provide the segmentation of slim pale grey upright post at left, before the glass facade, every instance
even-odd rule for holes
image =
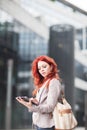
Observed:
[[[5,127],[6,130],[11,129],[11,97],[12,97],[12,71],[13,71],[13,60],[7,61],[7,96],[6,96],[6,118]]]

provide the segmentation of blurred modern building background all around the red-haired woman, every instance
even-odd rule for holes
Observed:
[[[66,0],[0,0],[0,129],[32,128],[32,113],[15,97],[32,96],[31,64],[40,55],[55,59],[87,129],[87,11]]]

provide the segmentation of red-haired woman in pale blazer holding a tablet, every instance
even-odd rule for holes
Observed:
[[[33,124],[37,130],[54,130],[52,112],[61,92],[57,64],[48,56],[39,56],[32,63],[32,75],[37,105],[32,103],[34,98],[30,98],[29,102],[21,97],[17,100],[33,112]]]

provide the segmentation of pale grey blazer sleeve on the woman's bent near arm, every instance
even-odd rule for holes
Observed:
[[[60,84],[59,80],[52,79],[49,84],[47,102],[45,104],[40,104],[38,106],[32,105],[32,107],[29,109],[29,111],[40,112],[40,113],[52,112],[58,101],[60,92],[61,92],[61,84]]]

